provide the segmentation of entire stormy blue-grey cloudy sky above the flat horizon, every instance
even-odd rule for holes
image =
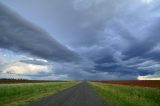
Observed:
[[[160,1],[0,0],[0,78],[160,79]]]

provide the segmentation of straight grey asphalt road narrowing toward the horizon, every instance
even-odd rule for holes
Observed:
[[[42,98],[28,106],[103,106],[87,82]]]

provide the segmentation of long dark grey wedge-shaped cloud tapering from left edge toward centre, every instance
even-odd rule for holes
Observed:
[[[42,29],[0,4],[0,47],[54,61],[75,61],[79,56]]]

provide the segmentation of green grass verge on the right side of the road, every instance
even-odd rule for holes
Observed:
[[[160,106],[160,89],[90,82],[107,106]]]

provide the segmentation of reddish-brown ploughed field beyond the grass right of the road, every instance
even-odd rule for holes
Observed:
[[[160,80],[95,81],[107,84],[160,88]]]

